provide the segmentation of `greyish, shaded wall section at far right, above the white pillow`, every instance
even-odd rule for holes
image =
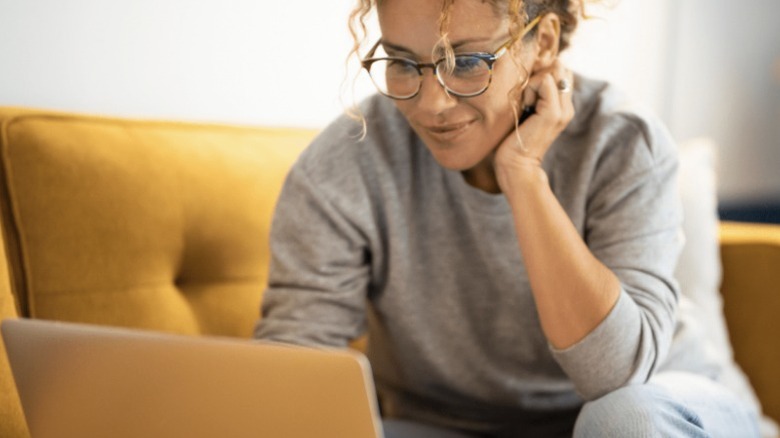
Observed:
[[[780,1],[676,1],[669,124],[719,146],[724,202],[780,202]]]

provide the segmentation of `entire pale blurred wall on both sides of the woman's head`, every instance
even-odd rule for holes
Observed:
[[[0,105],[321,127],[343,110],[352,3],[0,0]],[[590,10],[570,65],[678,140],[715,138],[722,198],[780,198],[780,1],[612,3]]]

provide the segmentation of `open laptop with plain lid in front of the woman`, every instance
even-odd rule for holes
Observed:
[[[381,438],[357,352],[43,320],[2,326],[32,438]]]

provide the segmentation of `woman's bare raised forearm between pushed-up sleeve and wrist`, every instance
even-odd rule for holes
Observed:
[[[606,318],[620,282],[585,245],[541,167],[502,174],[542,330],[553,347],[568,348]]]

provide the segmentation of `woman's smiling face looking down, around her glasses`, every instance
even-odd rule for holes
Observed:
[[[431,54],[440,39],[440,14],[439,1],[381,2],[378,17],[385,51],[419,62],[436,61]],[[454,2],[449,41],[455,53],[493,53],[508,39],[508,19],[497,16],[489,2]],[[479,96],[448,96],[431,69],[424,69],[420,93],[409,100],[395,101],[443,167],[469,171],[480,164],[480,168],[489,166],[491,152],[514,128],[509,92],[525,80],[527,73],[511,56],[512,52],[505,54],[494,64],[490,87]]]

